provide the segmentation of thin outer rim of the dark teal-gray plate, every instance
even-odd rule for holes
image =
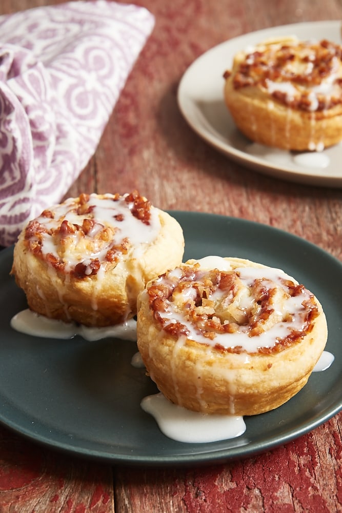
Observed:
[[[341,267],[342,272],[342,263],[334,257],[334,255],[328,253],[323,248],[313,244],[310,241],[307,241],[306,239],[292,234],[288,231],[285,231],[283,229],[273,227],[267,224],[259,223],[256,221],[250,221],[243,218],[234,218],[232,216],[226,216],[222,214],[212,214],[207,212],[194,212],[194,211],[183,211],[183,210],[168,210],[168,212],[171,215],[174,215],[175,218],[178,220],[178,222],[182,226],[182,219],[184,221],[184,218],[192,218],[189,223],[193,220],[198,220],[200,217],[205,217],[208,220],[219,220],[220,222],[228,222],[228,223],[236,223],[237,225],[245,225],[250,228],[253,228],[255,226],[258,226],[261,230],[269,230],[271,232],[277,233],[279,236],[286,236],[290,239],[295,239],[299,244],[304,244],[307,248],[312,248],[314,251],[318,251],[320,254],[323,255],[323,257],[328,257],[332,261],[334,261],[336,264],[338,264],[339,267]],[[180,219],[180,221],[179,221]],[[0,251],[0,261],[3,261],[5,258],[8,257],[9,254],[11,254],[13,251],[13,246],[10,246],[9,248],[5,248],[2,251]],[[5,255],[5,257],[4,257]],[[334,403],[334,406],[329,406],[329,408],[326,408],[324,410],[324,414],[320,415],[317,414],[314,419],[311,419],[310,422],[306,424],[301,424],[296,427],[292,427],[291,429],[288,429],[284,435],[283,431],[280,431],[280,433],[275,433],[270,439],[265,441],[264,439],[259,442],[254,442],[252,444],[245,444],[241,446],[235,446],[233,448],[222,448],[222,449],[215,449],[215,446],[213,446],[213,450],[207,450],[206,452],[198,452],[194,453],[193,455],[190,455],[190,453],[184,454],[184,455],[129,455],[128,453],[125,453],[124,455],[120,454],[113,454],[108,453],[105,450],[99,450],[99,449],[91,449],[88,447],[81,447],[79,445],[73,445],[72,443],[66,444],[64,442],[58,442],[55,440],[49,439],[45,434],[41,433],[35,433],[33,430],[29,430],[20,425],[18,425],[17,422],[13,422],[11,420],[4,419],[4,416],[0,410],[0,423],[16,433],[18,433],[21,436],[24,436],[25,438],[29,439],[30,441],[40,443],[50,449],[56,449],[62,452],[66,452],[69,455],[72,454],[74,456],[80,456],[80,457],[87,457],[94,460],[100,460],[104,462],[108,462],[111,464],[120,464],[120,465],[146,465],[146,466],[175,466],[175,465],[182,465],[182,466],[192,466],[195,464],[214,464],[214,463],[224,463],[227,461],[233,461],[240,458],[249,458],[254,455],[257,455],[260,452],[265,452],[267,450],[273,449],[279,445],[286,444],[290,441],[293,441],[297,439],[300,436],[305,435],[309,431],[312,431],[316,427],[318,427],[321,424],[324,424],[329,419],[334,417],[339,411],[342,409],[342,391],[340,393],[340,398],[338,402]],[[187,444],[191,445],[191,444]],[[189,451],[190,452],[190,451]]]

